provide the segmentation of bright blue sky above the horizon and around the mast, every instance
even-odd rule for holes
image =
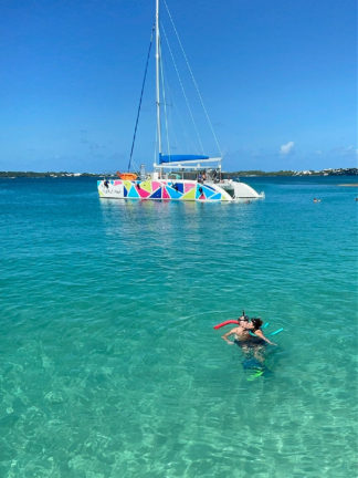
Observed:
[[[154,3],[0,0],[0,170],[126,169]],[[167,3],[224,169],[357,166],[355,0]],[[148,75],[134,158],[150,168]]]

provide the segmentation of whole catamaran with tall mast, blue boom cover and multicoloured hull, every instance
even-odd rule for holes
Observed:
[[[164,0],[165,4],[166,1]],[[166,4],[167,7],[167,4]],[[168,9],[168,7],[167,7]],[[168,10],[169,18],[171,19]],[[173,25],[175,32],[177,30]],[[218,157],[210,157],[203,154],[200,155],[172,155],[170,152],[162,153],[162,132],[161,132],[161,107],[165,105],[160,92],[160,74],[161,74],[161,46],[160,46],[160,28],[159,28],[159,0],[156,0],[156,19],[155,19],[155,43],[156,43],[156,108],[157,108],[157,153],[154,163],[154,172],[145,174],[144,170],[139,175],[129,173],[130,162],[134,149],[134,142],[138,125],[140,104],[139,102],[137,122],[135,127],[134,142],[131,145],[128,173],[119,174],[117,179],[103,179],[97,181],[99,197],[117,198],[117,199],[160,199],[160,200],[191,200],[191,201],[234,201],[240,199],[257,199],[263,198],[264,194],[256,193],[251,186],[239,180],[223,179],[221,173],[221,154]],[[165,33],[166,34],[166,33]],[[177,33],[178,34],[178,33]],[[179,44],[182,44],[178,38]],[[151,46],[151,42],[150,42]],[[147,75],[148,60],[150,54],[148,51],[145,79]],[[186,62],[187,56],[182,50]],[[215,143],[219,143],[213,133],[208,113],[203,106],[201,95],[197,83],[193,79],[192,71],[188,64],[192,81],[199,94],[201,105],[204,110],[207,121],[209,122],[211,132]],[[162,83],[161,83],[162,84]]]

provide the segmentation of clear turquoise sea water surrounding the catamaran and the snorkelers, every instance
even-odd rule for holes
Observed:
[[[2,179],[0,476],[355,476],[354,181],[200,205]],[[254,381],[212,329],[242,309],[284,328]]]

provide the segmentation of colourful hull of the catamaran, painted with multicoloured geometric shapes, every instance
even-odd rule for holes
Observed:
[[[221,202],[264,197],[251,186],[238,181],[198,183],[188,179],[98,180],[99,197],[110,199],[165,199]]]

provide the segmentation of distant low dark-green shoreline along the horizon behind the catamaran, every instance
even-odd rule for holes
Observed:
[[[0,172],[0,178],[14,179],[19,177],[27,178],[63,178],[63,177],[117,177],[115,173],[67,173],[67,172]],[[224,178],[235,177],[280,177],[280,176],[358,176],[358,168],[336,168],[322,170],[280,170],[280,172],[262,172],[262,170],[239,170],[222,173]],[[348,185],[344,185],[348,186]],[[351,186],[356,186],[352,184]]]

